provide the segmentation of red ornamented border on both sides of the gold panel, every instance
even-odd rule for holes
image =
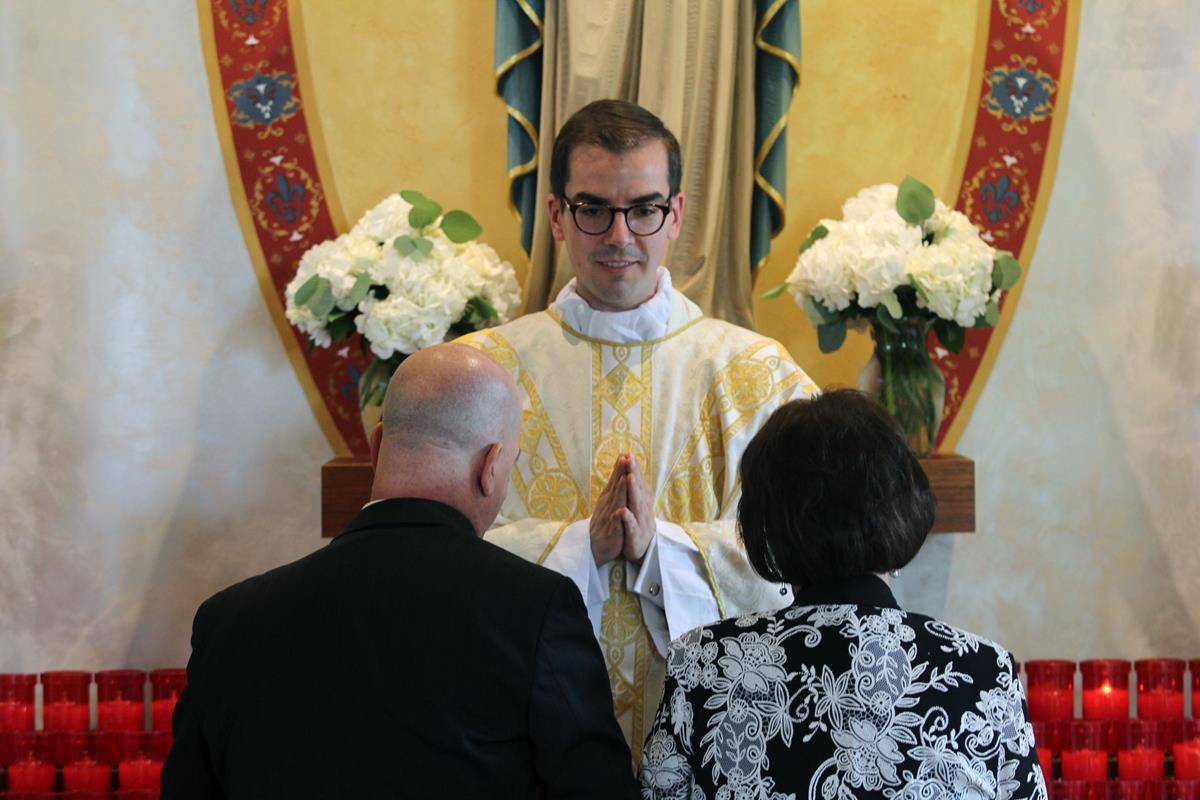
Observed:
[[[978,108],[971,146],[964,169],[956,206],[979,225],[994,245],[1021,255],[1037,211],[1055,112],[1064,101],[1063,62],[1070,25],[1069,0],[991,0],[988,22],[988,54],[984,59]],[[283,320],[284,287],[295,273],[300,255],[312,245],[337,235],[323,190],[300,96],[287,0],[199,0],[202,13],[211,22],[210,68],[224,100],[224,114],[217,124],[228,131],[232,148],[227,157],[235,205],[242,212],[247,246],[259,270],[268,303],[280,324],[281,335],[296,363],[296,372],[310,392],[313,410],[340,452],[365,453],[358,410],[358,375],[366,362],[358,347],[307,349],[305,337]],[[1003,104],[989,102],[992,82],[1024,70],[1043,80],[1048,102],[1036,112],[1006,113]],[[266,115],[246,113],[247,82],[265,100]],[[1024,89],[1030,100],[1037,92]],[[274,91],[274,95],[271,92]],[[266,95],[262,95],[266,92]],[[282,96],[289,95],[287,103]],[[239,106],[239,98],[242,106]],[[272,104],[275,103],[275,104]],[[1012,109],[1009,109],[1012,110]],[[268,119],[270,116],[270,119]],[[224,138],[224,136],[223,136]],[[1052,168],[1052,164],[1050,164]],[[238,197],[238,196],[241,197]],[[1039,203],[1040,199],[1040,203]],[[1036,230],[1034,230],[1036,235]],[[1032,242],[1032,239],[1030,240]],[[1032,252],[1032,248],[1030,248]],[[1028,264],[1025,264],[1028,267]],[[1006,296],[1003,305],[1012,305]],[[1012,309],[1006,311],[1010,315]],[[997,329],[970,330],[958,355],[946,353],[930,339],[935,361],[946,375],[946,414],[938,446],[947,441],[960,411],[970,414],[972,398],[985,377],[982,369],[989,344]],[[997,339],[998,344],[998,339]],[[964,420],[965,421],[965,420]],[[961,425],[958,426],[961,429]],[[952,441],[953,444],[953,441]]]

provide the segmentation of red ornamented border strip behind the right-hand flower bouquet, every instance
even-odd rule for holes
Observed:
[[[1043,179],[1049,176],[1052,181],[1054,178],[1055,164],[1048,164],[1046,158],[1052,150],[1055,122],[1062,122],[1055,119],[1055,114],[1060,107],[1066,107],[1063,64],[1070,30],[1069,1],[990,2],[988,49],[956,207],[979,225],[994,247],[1009,251],[1018,258],[1032,254],[1032,246],[1027,251],[1025,248],[1026,239],[1036,224],[1038,209],[1044,209],[1049,200],[1049,196],[1040,196]],[[1036,80],[1031,80],[1030,74]],[[1016,107],[998,103],[994,96],[994,84],[1003,84],[1006,78],[1008,85],[1001,85],[998,91],[1001,95],[1013,90],[1019,92],[1016,114],[1012,113]],[[1045,102],[1037,102],[1043,91],[1048,95]],[[1037,230],[1032,233],[1036,237]],[[1033,243],[1032,237],[1030,243]],[[1028,276],[1027,258],[1022,266],[1024,282]],[[1006,294],[1001,301],[1002,311],[1014,302],[1015,296]],[[1007,309],[1008,317],[1012,311]],[[986,378],[980,374],[980,365],[997,331],[998,327],[968,330],[966,343],[958,355],[947,353],[930,336],[929,349],[946,375],[946,413],[938,431],[938,449],[946,443],[959,413],[965,410],[970,414],[968,393],[977,379],[983,381]],[[998,345],[997,338],[995,347]],[[974,395],[978,395],[979,387],[976,387]],[[961,423],[956,426],[959,431],[961,427]]]

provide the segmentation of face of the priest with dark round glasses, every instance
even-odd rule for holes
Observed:
[[[600,311],[635,308],[654,296],[667,242],[683,222],[683,194],[670,196],[666,145],[652,140],[618,154],[583,144],[568,163],[566,197],[548,198],[550,228],[566,242],[576,290]],[[610,215],[612,207],[629,211]]]

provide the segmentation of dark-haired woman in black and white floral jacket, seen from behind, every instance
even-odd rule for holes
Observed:
[[[796,602],[672,643],[643,798],[1036,798],[1013,657],[896,604],[934,524],[895,421],[842,390],[781,407],[742,458],[750,564]]]

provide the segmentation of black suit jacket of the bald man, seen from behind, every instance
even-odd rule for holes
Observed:
[[[206,600],[187,679],[164,800],[637,795],[575,584],[431,500]]]

